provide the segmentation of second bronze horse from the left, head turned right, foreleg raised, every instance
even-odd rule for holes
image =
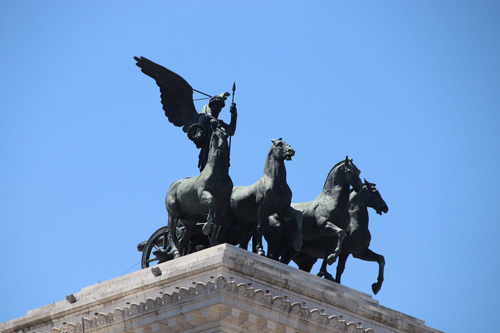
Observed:
[[[293,248],[298,251],[302,246],[302,214],[290,207],[291,190],[286,183],[284,165],[284,160],[290,161],[295,151],[281,138],[271,142],[262,177],[253,185],[234,187],[230,200],[231,219],[241,231],[239,247],[246,250],[256,227],[254,251],[261,256],[265,254],[262,235],[272,214],[294,221]]]

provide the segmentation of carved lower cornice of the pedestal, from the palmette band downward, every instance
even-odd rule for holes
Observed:
[[[220,296],[222,303],[203,306],[206,296]],[[224,297],[251,304],[254,311],[238,309],[223,303]],[[164,316],[172,308],[199,300],[200,309],[175,316]],[[195,303],[195,302],[194,302]],[[241,307],[247,308],[247,307]],[[280,322],[263,316],[266,312],[279,314]],[[154,299],[131,303],[113,312],[99,313],[92,318],[83,318],[84,332],[204,332],[209,328],[224,328],[225,331],[241,332],[339,332],[370,333],[372,329],[346,323],[336,316],[327,316],[319,310],[309,310],[299,303],[291,303],[281,296],[272,296],[261,289],[218,276],[214,281],[198,282],[192,287],[180,288],[173,293],[164,293]],[[238,330],[236,331],[236,329]],[[302,331],[303,330],[303,331]],[[22,331],[20,331],[22,332]],[[20,333],[19,332],[19,333]],[[45,333],[82,333],[81,322],[67,323]]]

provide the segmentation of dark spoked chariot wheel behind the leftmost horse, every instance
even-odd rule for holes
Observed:
[[[177,233],[179,233],[177,229]],[[140,267],[147,268],[150,265],[164,263],[165,261],[172,260],[173,254],[170,252],[170,237],[168,226],[161,227],[156,230],[151,237],[147,240],[142,250],[142,258],[140,260]],[[140,251],[140,250],[139,250]]]

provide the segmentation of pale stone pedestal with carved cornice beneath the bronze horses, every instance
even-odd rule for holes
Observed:
[[[50,333],[439,332],[370,295],[222,244],[83,288],[0,324]]]

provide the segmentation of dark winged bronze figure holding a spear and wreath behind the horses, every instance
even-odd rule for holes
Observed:
[[[201,172],[208,159],[210,137],[217,125],[224,128],[229,136],[234,135],[237,118],[236,104],[231,103],[229,108],[231,113],[229,125],[218,119],[220,111],[225,106],[224,101],[230,95],[228,92],[212,96],[198,113],[192,101],[193,89],[186,80],[142,56],[134,56],[133,58],[137,61],[135,64],[140,68],[140,71],[156,81],[162,108],[168,121],[177,127],[182,127],[182,130],[187,133],[187,137],[196,144],[197,148],[200,148],[198,168]]]

